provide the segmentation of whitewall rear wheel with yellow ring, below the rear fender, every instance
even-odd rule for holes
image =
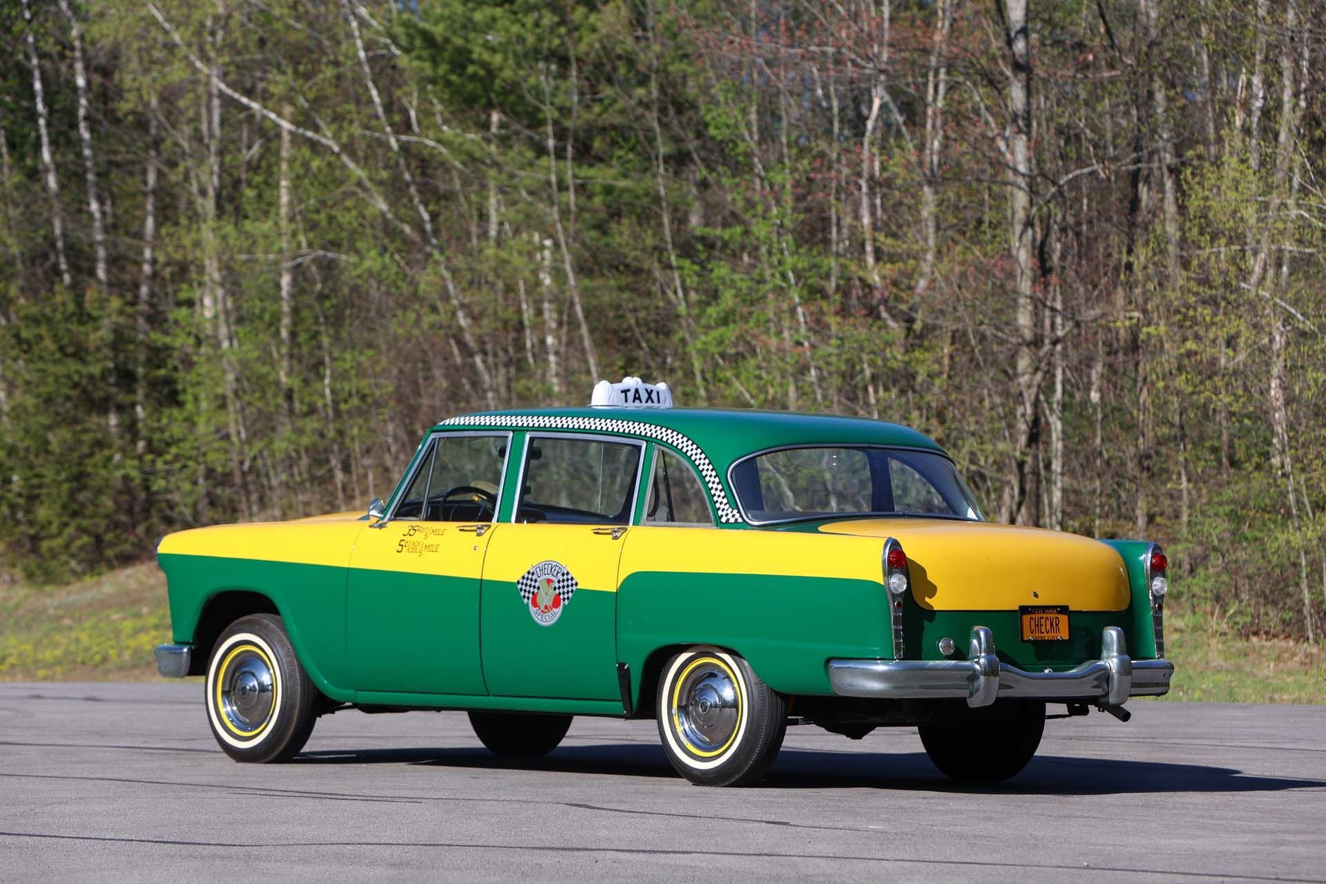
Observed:
[[[716,648],[678,653],[659,675],[659,738],[697,786],[748,786],[773,763],[788,706],[741,657]]]

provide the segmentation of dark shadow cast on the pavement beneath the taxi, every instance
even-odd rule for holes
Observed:
[[[540,770],[548,773],[676,778],[660,746],[561,746],[530,761],[499,758],[479,747],[306,751],[294,763],[422,765],[430,767]],[[940,774],[924,753],[813,751],[784,749],[764,789],[895,789],[1022,795],[1114,795],[1139,793],[1254,793],[1326,789],[1326,779],[1257,777],[1235,767],[1159,761],[1037,755],[997,786],[961,786]]]

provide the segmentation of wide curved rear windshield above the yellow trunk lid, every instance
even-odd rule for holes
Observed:
[[[895,448],[784,448],[732,468],[753,522],[830,516],[932,516],[984,521],[952,461]]]

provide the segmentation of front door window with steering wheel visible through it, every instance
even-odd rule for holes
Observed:
[[[491,522],[507,457],[507,436],[435,436],[396,508],[395,518]]]

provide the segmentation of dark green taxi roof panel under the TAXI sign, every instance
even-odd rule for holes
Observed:
[[[544,428],[544,420],[549,421],[546,428],[577,429],[575,421],[595,419],[650,424],[675,431],[697,444],[715,464],[724,467],[757,451],[782,445],[890,445],[944,453],[944,449],[924,433],[883,420],[745,408],[516,408],[459,415],[444,424],[438,424],[434,429],[501,425],[514,429]],[[590,428],[602,429],[597,420],[595,425],[585,427]],[[626,425],[607,429],[607,432],[614,431],[633,432]]]

